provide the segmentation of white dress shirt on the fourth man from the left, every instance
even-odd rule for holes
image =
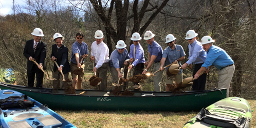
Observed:
[[[95,56],[95,63],[97,63],[95,67],[97,69],[100,68],[103,63],[109,61],[108,52],[109,49],[103,41],[101,41],[99,45],[97,45],[96,41],[93,42],[91,54],[92,56]]]

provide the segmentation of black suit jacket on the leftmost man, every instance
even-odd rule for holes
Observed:
[[[34,39],[27,40],[24,51],[23,51],[23,55],[28,59],[28,62],[27,62],[28,71],[31,71],[33,67],[33,61],[29,60],[30,56],[35,58],[35,61],[38,62],[38,64],[43,63],[43,69],[46,70],[46,65],[44,62],[44,59],[46,57],[46,50],[47,50],[47,45],[41,40],[39,44],[36,46],[36,49],[34,52]]]

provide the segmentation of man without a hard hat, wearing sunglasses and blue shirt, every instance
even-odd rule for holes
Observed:
[[[74,89],[81,89],[81,83],[82,83],[82,75],[76,75],[72,73],[74,70],[83,68],[84,69],[84,59],[82,63],[80,63],[82,58],[86,58],[89,54],[88,46],[85,42],[83,42],[84,35],[79,32],[76,34],[77,41],[74,42],[74,44],[71,47],[71,59],[70,59],[70,71],[72,75],[72,87]],[[83,72],[84,73],[84,72]],[[76,86],[77,84],[77,86]]]

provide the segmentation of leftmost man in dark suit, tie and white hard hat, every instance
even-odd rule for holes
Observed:
[[[27,76],[28,87],[34,86],[34,75],[36,74],[36,87],[43,87],[44,72],[40,70],[43,68],[46,70],[44,59],[46,57],[47,45],[41,40],[44,36],[42,29],[35,28],[31,33],[34,39],[27,40],[23,55],[28,59],[27,62]],[[36,66],[31,59],[39,63]]]

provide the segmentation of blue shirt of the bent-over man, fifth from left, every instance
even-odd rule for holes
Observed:
[[[111,53],[111,56],[110,56],[110,59],[109,59],[109,67],[115,67],[116,69],[119,68],[123,68],[123,62],[125,60],[129,60],[130,59],[130,56],[128,54],[128,51],[127,49],[124,49],[123,53],[119,53],[116,50],[114,50],[112,53]]]

